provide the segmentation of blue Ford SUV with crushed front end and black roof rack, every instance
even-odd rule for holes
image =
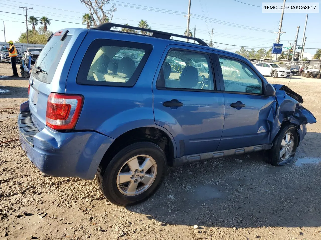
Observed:
[[[293,160],[315,121],[298,94],[201,39],[140,31],[104,23],[49,37],[18,118],[22,148],[43,174],[96,176],[125,206],[150,197],[167,166],[261,150],[273,165]]]

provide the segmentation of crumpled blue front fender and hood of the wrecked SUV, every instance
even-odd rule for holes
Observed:
[[[303,103],[303,99],[298,93],[282,84],[273,84],[273,86],[276,90],[276,101],[268,116],[268,121],[272,129],[272,131],[270,131],[271,140],[275,138],[281,129],[283,121],[288,121],[296,125],[317,122],[315,116],[302,106],[301,103]]]

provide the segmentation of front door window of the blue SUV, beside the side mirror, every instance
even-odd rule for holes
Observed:
[[[228,92],[248,92],[262,94],[262,80],[247,64],[234,59],[219,58],[225,91]],[[233,69],[227,73],[224,66],[230,64]],[[224,73],[225,71],[225,73]]]

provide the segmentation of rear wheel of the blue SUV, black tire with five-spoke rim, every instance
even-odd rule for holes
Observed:
[[[97,172],[100,191],[113,204],[130,206],[145,201],[160,187],[167,172],[164,151],[152,142],[121,149]]]

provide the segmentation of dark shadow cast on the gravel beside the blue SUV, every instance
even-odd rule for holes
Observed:
[[[274,167],[260,153],[171,168],[151,199],[127,210],[180,225],[320,226],[320,141],[308,132],[294,159],[312,164]]]

